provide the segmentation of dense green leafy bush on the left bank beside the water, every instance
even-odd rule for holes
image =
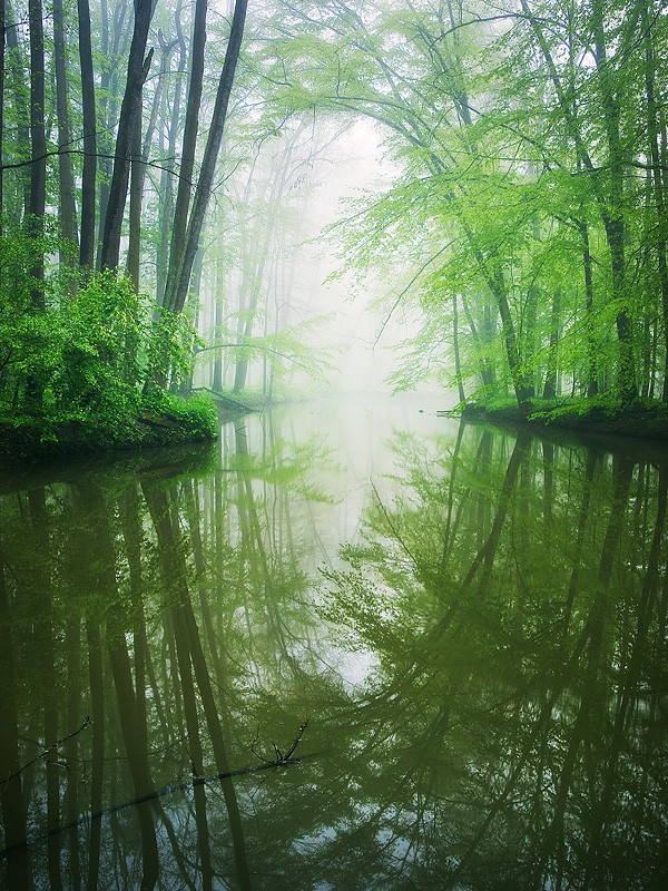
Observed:
[[[30,457],[215,438],[208,401],[159,389],[149,401],[143,395],[160,362],[174,380],[189,370],[194,334],[185,317],[154,323],[148,297],[129,280],[104,272],[77,282],[62,266],[46,277],[45,309],[32,305],[35,252],[59,247],[50,227],[40,239],[18,231],[0,241],[3,451]]]

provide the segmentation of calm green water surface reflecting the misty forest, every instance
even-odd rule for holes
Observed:
[[[434,408],[0,479],[4,888],[668,888],[666,450]]]

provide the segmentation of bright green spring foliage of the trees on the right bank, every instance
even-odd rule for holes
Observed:
[[[548,381],[658,394],[666,198],[648,90],[656,105],[665,22],[541,0],[494,10],[493,29],[461,4],[286,7],[264,52],[285,107],[379,123],[399,170],[336,231],[347,272],[383,281],[385,314],[423,319],[392,383],[435,375],[522,403]]]

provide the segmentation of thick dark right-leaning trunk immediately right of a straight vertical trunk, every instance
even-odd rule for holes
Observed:
[[[130,157],[135,144],[135,130],[140,126],[144,84],[153,58],[153,49],[149,50],[146,58],[144,57],[151,17],[153,0],[136,0],[135,29],[128,59],[126,89],[120,107],[114,173],[102,239],[101,266],[107,270],[118,267],[120,233],[130,177]]]

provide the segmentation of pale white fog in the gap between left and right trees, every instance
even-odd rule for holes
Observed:
[[[345,237],[350,238],[351,226],[345,221],[358,213],[358,202],[369,203],[386,190],[399,168],[386,157],[383,134],[372,123],[360,120],[344,130],[341,125],[337,128],[297,125],[288,136],[264,143],[253,166],[242,165],[232,175],[223,202],[224,214],[236,218],[239,235],[236,242],[227,239],[232,251],[232,258],[226,256],[232,268],[226,283],[228,332],[235,324],[240,330],[247,320],[253,288],[248,277],[253,276],[259,291],[253,336],[257,337],[261,326],[265,336],[273,331],[279,337],[287,331],[312,351],[282,363],[287,398],[392,393],[389,375],[396,369],[401,344],[416,329],[405,301],[396,305],[393,286],[409,274],[400,264],[394,268],[387,257],[371,251],[363,272],[346,267],[353,264],[347,263]],[[209,247],[207,257],[210,254]],[[210,268],[208,278],[214,291],[216,273]],[[215,359],[210,346],[220,340],[215,334],[215,301],[210,292],[207,298],[206,285],[200,303],[199,332],[209,351],[198,364],[195,382],[208,385]],[[277,349],[284,353],[282,359],[289,355],[288,349]],[[224,385],[228,386],[233,359],[224,353]],[[323,363],[316,376],[310,373],[314,362]],[[248,365],[247,384],[264,385],[266,391],[266,354],[258,347]],[[435,381],[421,383],[419,391],[443,393]]]

